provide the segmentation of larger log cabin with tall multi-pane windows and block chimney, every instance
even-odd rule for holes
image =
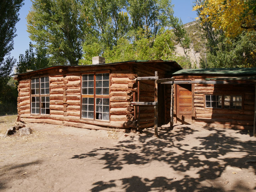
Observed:
[[[92,65],[50,66],[15,74],[19,83],[18,120],[96,130],[153,126],[155,80],[180,69],[175,61],[105,63],[105,58],[94,57]],[[143,79],[148,76],[153,77]],[[167,89],[168,86],[165,90],[165,85],[159,84],[157,90],[160,124],[170,119]],[[142,105],[143,102],[148,105]]]

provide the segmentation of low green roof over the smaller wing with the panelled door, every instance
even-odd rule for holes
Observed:
[[[209,68],[209,69],[181,69],[170,75],[256,75],[256,67],[254,68]]]

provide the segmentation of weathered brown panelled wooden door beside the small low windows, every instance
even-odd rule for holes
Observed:
[[[192,123],[192,86],[176,85],[176,121],[182,124]]]

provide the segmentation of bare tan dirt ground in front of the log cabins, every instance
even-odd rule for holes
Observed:
[[[31,135],[0,138],[0,191],[256,191],[256,163],[244,163],[256,160],[248,131],[176,125],[156,138],[153,129],[26,126]]]

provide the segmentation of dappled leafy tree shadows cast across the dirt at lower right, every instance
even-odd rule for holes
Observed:
[[[255,142],[241,142],[239,136],[243,133],[226,134],[224,129],[204,127],[208,132],[204,136],[198,134],[201,130],[189,126],[159,128],[159,137],[152,137],[153,131],[148,130],[143,136],[131,136],[127,140],[119,141],[116,146],[96,148],[88,153],[74,155],[72,158],[93,157],[104,162],[104,169],[122,170],[125,164],[144,165],[152,161],[165,162],[171,169],[185,174],[188,170],[195,170],[197,177],[185,175],[184,178],[155,177],[153,180],[132,176],[120,180],[98,181],[91,191],[111,190],[116,182],[122,182],[123,191],[224,191],[224,182],[218,178],[229,166],[240,169],[253,169],[252,163],[244,163],[248,159],[256,159]],[[194,143],[190,143],[194,138]],[[136,145],[133,143],[137,141]],[[235,152],[236,156],[230,156]],[[249,156],[250,155],[250,156]],[[249,157],[248,157],[249,156]],[[202,182],[215,182],[212,186],[205,186]],[[141,187],[137,187],[140,185]],[[233,187],[237,191],[250,191],[245,188],[246,183],[237,181]],[[255,186],[256,187],[256,186]],[[143,189],[143,190],[141,190]],[[236,191],[235,190],[235,191]]]

